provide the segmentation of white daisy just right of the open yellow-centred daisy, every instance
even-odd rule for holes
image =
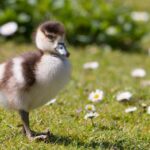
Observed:
[[[121,102],[121,101],[129,101],[132,97],[132,93],[129,91],[125,91],[125,92],[121,92],[119,94],[117,94],[116,99],[117,101]]]

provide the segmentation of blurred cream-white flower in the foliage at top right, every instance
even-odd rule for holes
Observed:
[[[147,22],[149,20],[149,14],[143,11],[134,11],[131,13],[131,18],[134,21],[143,21]]]

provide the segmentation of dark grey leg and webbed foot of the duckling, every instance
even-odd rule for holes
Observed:
[[[19,111],[21,120],[23,122],[23,132],[28,137],[29,140],[46,140],[50,136],[50,132],[36,133],[30,129],[29,125],[29,112],[24,110]]]

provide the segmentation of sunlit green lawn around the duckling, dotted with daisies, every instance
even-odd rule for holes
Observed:
[[[11,43],[0,47],[1,62],[32,50],[31,45]],[[58,95],[57,102],[31,112],[31,127],[37,131],[50,129],[54,136],[48,143],[30,142],[17,127],[21,120],[16,112],[0,109],[0,149],[144,149],[150,148],[150,116],[143,113],[140,103],[150,105],[150,87],[142,87],[143,80],[149,80],[150,58],[146,54],[104,51],[98,47],[70,48],[72,78],[68,86]],[[98,61],[97,70],[84,70],[83,64]],[[144,79],[133,79],[132,69],[142,67],[147,71]],[[85,105],[89,104],[88,94],[96,88],[105,96],[95,104],[99,117],[92,127],[84,120]],[[130,90],[133,100],[118,103],[115,95]],[[126,114],[125,108],[137,106],[138,111]],[[81,113],[76,111],[82,109]]]

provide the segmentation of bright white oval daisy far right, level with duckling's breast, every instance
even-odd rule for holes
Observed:
[[[131,76],[135,78],[143,78],[146,76],[146,71],[142,68],[137,68],[131,72]]]

